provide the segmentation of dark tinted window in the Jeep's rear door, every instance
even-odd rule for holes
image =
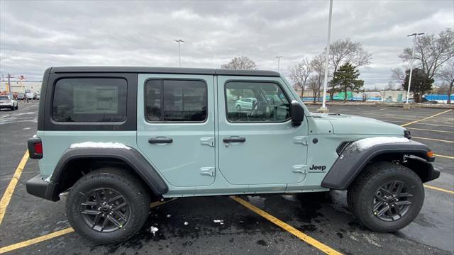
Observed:
[[[206,90],[204,81],[149,80],[145,84],[145,118],[152,122],[203,122]]]

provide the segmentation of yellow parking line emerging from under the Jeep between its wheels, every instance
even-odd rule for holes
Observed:
[[[290,232],[290,234],[293,234],[295,237],[298,237],[299,239],[303,240],[304,242],[311,244],[312,246],[316,247],[320,251],[323,251],[326,254],[341,254],[341,252],[336,251],[335,249],[331,248],[330,246],[327,246],[326,244],[323,244],[316,239],[309,237],[307,234],[304,234],[303,232],[299,231],[298,229],[288,225],[285,222],[282,222],[282,220],[277,219],[277,217],[274,217],[270,215],[268,212],[265,212],[264,210],[261,210],[260,208],[255,207],[254,205],[251,205],[250,203],[246,202],[245,200],[231,196],[233,200],[236,202],[240,203],[241,205],[245,206],[245,208],[248,208],[249,210],[252,210],[253,212],[257,213],[258,215],[264,217],[267,220],[270,220],[270,222],[274,223],[275,225],[281,227],[282,229],[286,230],[287,232]]]

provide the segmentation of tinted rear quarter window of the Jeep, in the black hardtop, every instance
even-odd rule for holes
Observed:
[[[60,79],[55,84],[52,118],[59,122],[126,120],[127,83],[119,78]]]

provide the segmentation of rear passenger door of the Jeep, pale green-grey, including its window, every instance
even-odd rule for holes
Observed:
[[[137,143],[175,187],[215,177],[214,77],[139,74]]]

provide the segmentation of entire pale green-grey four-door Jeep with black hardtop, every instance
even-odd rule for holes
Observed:
[[[153,200],[330,190],[348,191],[365,227],[394,232],[440,175],[408,130],[311,113],[277,72],[52,67],[41,91],[27,191],[68,191],[70,224],[99,243],[132,237]]]

